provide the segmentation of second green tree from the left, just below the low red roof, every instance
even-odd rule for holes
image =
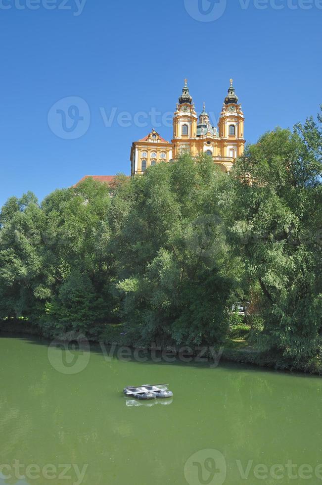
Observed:
[[[110,190],[87,179],[74,189],[55,191],[44,200],[46,247],[54,261],[44,284],[46,299],[40,321],[47,333],[82,330],[91,334],[95,322],[108,322],[115,301],[107,214]]]

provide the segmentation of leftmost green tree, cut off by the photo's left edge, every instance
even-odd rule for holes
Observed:
[[[28,316],[42,281],[46,218],[34,194],[11,197],[0,214],[0,318]]]

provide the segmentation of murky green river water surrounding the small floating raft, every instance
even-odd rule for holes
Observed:
[[[122,393],[147,383],[169,383],[173,399]],[[0,484],[322,483],[318,377],[2,334],[0,384]]]

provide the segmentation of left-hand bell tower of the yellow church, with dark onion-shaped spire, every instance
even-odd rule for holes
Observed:
[[[177,108],[173,117],[173,146],[174,158],[182,151],[190,151],[192,156],[197,154],[195,140],[197,137],[197,113],[192,97],[189,94],[187,80],[184,80],[182,95],[179,97]]]

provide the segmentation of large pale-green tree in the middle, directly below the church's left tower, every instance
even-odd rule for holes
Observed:
[[[225,338],[234,285],[218,208],[226,177],[210,157],[184,154],[131,183],[131,209],[113,247],[122,317],[144,343]],[[117,197],[111,214],[114,204]]]

